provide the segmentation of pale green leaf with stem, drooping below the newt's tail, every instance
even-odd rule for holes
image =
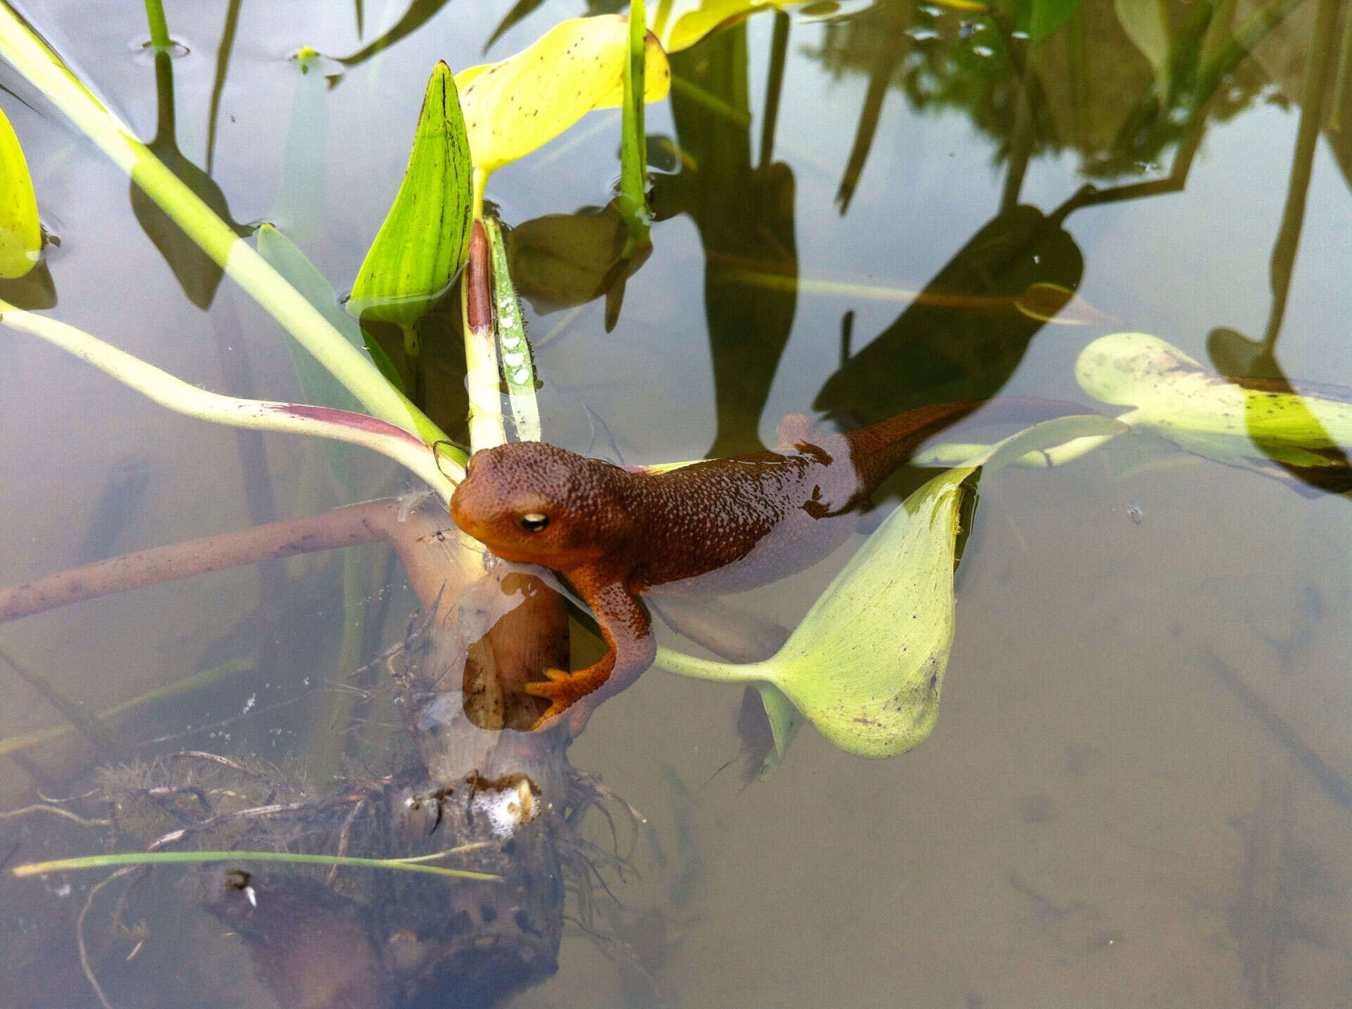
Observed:
[[[891,756],[938,717],[953,643],[953,567],[967,482],[1028,452],[1122,431],[1110,417],[1059,417],[994,446],[911,494],[873,532],[772,658],[749,665],[658,650],[657,665],[704,679],[768,683],[776,756],[794,724],[780,696],[836,746]]]

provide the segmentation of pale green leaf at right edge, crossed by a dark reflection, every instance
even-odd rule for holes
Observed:
[[[1136,407],[1124,415],[1133,428],[1220,462],[1244,463],[1257,443],[1279,462],[1329,466],[1326,450],[1352,444],[1352,403],[1226,380],[1144,332],[1094,340],[1075,377],[1103,403]]]

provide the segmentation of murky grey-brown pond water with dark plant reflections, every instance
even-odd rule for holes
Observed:
[[[650,18],[669,7],[650,0]],[[546,440],[648,463],[758,451],[794,412],[850,427],[996,393],[1102,408],[1075,363],[1121,331],[1229,374],[1352,385],[1348,4],[1046,4],[1069,14],[1045,38],[975,7],[790,5],[673,54],[672,96],[646,112],[653,249],[622,292],[606,285],[622,226],[598,209],[619,176],[618,111],[493,174]],[[276,222],[339,292],[397,189],[435,61],[499,59],[619,9],[176,1],[170,111],[139,5],[22,8],[157,151],[176,140],[210,172],[233,222]],[[1260,12],[1271,23],[1244,38]],[[300,46],[323,54],[304,74]],[[61,239],[50,313],[189,382],[297,398],[279,327],[230,280],[195,288],[191,253],[172,228],[162,249],[147,239],[127,178],[8,68],[0,85]],[[426,396],[462,438],[458,308],[443,315],[425,331]],[[376,457],[342,485],[318,444],[180,417],[8,330],[0,388],[3,585],[411,486]],[[618,901],[596,886],[604,937],[568,924],[557,973],[510,1005],[1352,1004],[1352,513],[1282,475],[1133,435],[983,480],[938,724],[900,756],[804,728],[748,783],[741,689],[650,671],[569,750],[648,821],[633,864],[600,869]],[[863,536],[734,605],[792,627]],[[315,554],[7,625],[4,654],[30,675],[0,663],[0,804],[174,750],[319,782],[392,773],[389,693],[352,700],[347,677],[416,601],[391,551],[353,550],[346,609],[341,558]],[[12,743],[68,725],[51,688],[88,715],[204,670],[100,721],[101,747],[72,731]],[[596,814],[581,829],[608,844]],[[0,821],[11,864],[107,846],[54,814]],[[0,1004],[99,1004],[76,917],[101,878],[0,883]],[[154,881],[135,937],[116,897],[91,904],[111,1004],[384,1005],[288,1000],[173,873]]]

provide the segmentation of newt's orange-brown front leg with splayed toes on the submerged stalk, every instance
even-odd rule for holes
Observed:
[[[608,651],[576,673],[545,670],[549,679],[526,683],[522,689],[550,701],[549,710],[535,720],[533,728],[541,728],[568,712],[568,725],[577,736],[603,700],[623,690],[653,665],[657,642],[648,611],[622,581],[606,579],[585,570],[566,574],[596,615]]]

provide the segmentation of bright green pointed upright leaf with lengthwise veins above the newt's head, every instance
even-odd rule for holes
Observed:
[[[438,62],[403,185],[357,271],[347,301],[352,315],[411,326],[427,311],[465,262],[472,189],[456,78]]]

